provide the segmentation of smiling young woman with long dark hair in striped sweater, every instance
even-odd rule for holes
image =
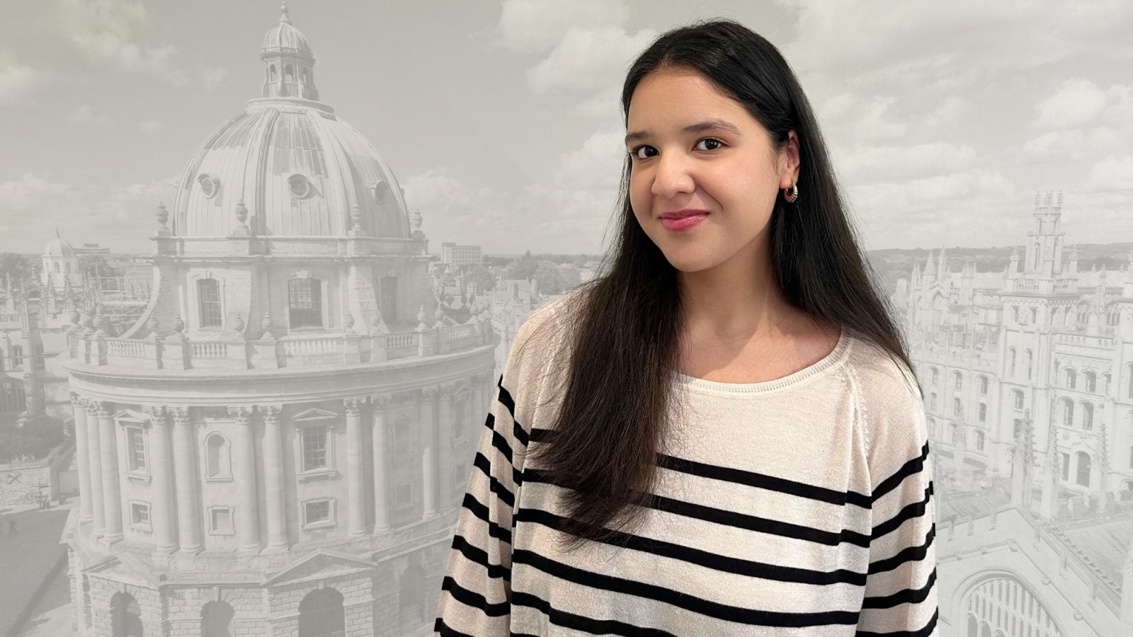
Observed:
[[[793,73],[701,23],[622,108],[617,244],[516,337],[435,631],[935,635],[920,388]]]

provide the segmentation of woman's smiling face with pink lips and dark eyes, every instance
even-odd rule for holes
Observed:
[[[767,222],[780,188],[799,170],[798,138],[784,153],[736,101],[702,75],[664,70],[633,90],[627,117],[630,206],[646,235],[682,272],[732,258],[767,257]],[[800,196],[806,196],[800,193]],[[663,215],[707,212],[690,227],[666,227]]]

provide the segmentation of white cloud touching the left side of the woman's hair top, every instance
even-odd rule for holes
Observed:
[[[615,25],[571,26],[539,63],[527,70],[535,93],[573,88],[594,91],[620,85],[630,62],[656,37],[651,28],[630,35]]]

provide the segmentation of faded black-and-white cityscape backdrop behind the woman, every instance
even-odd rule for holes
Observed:
[[[1123,0],[0,1],[0,630],[434,634],[628,67],[713,17],[799,77],[922,384],[934,634],[1133,635]]]

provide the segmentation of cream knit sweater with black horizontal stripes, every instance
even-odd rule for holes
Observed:
[[[528,317],[504,364],[434,634],[937,635],[919,390],[846,329],[774,381],[673,372],[685,407],[658,453],[655,508],[619,545],[559,552],[561,487],[522,456],[552,422],[543,380],[556,356],[517,346],[561,306]]]

